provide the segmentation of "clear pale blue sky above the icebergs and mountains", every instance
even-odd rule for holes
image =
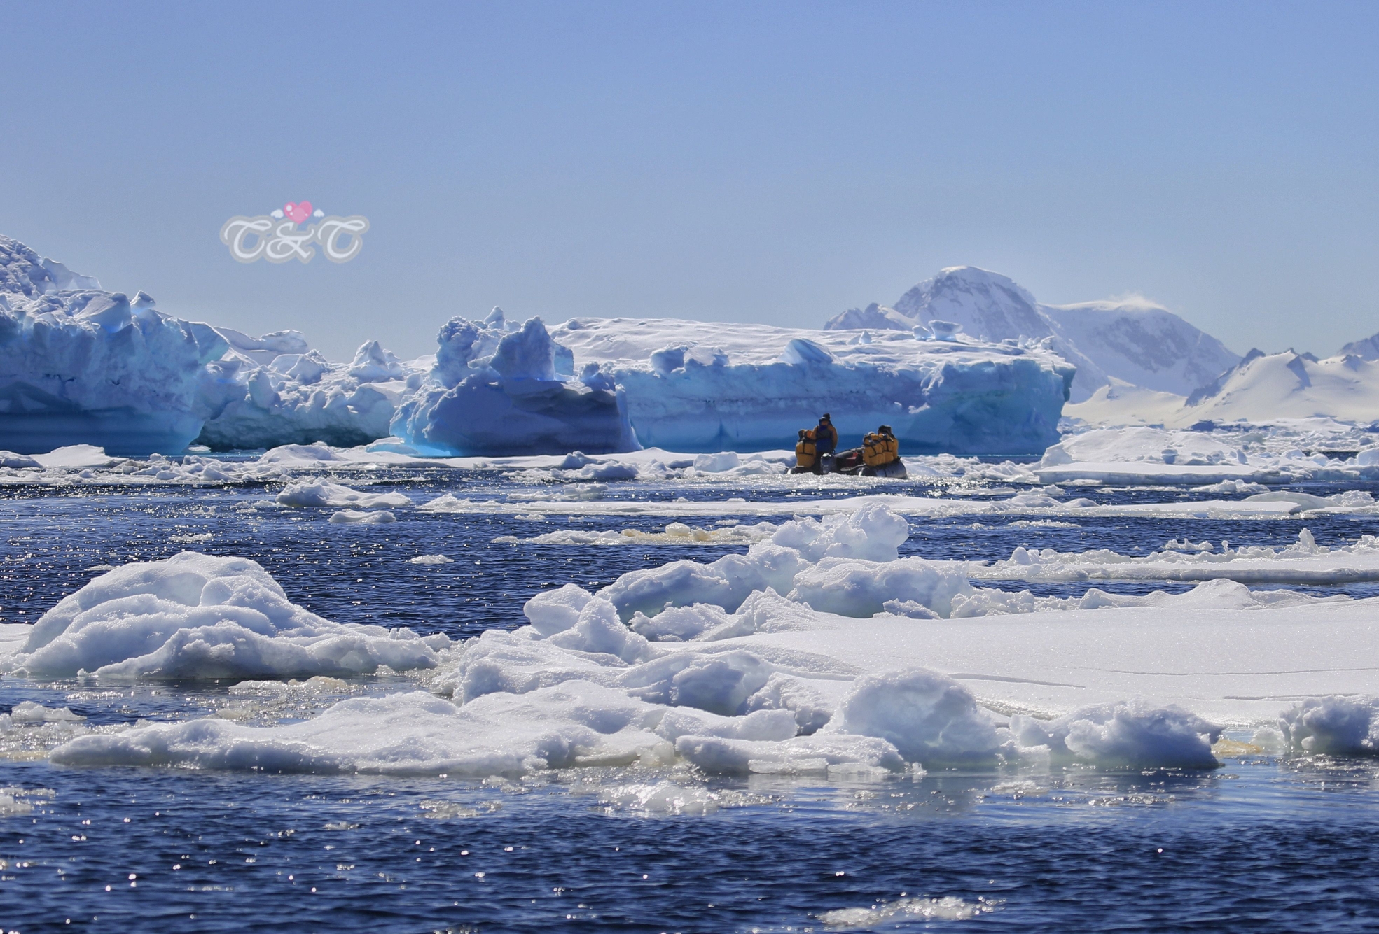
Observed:
[[[1379,4],[4,3],[0,233],[164,311],[429,353],[818,326],[943,266],[1236,351],[1379,331]],[[361,214],[350,263],[232,215]]]

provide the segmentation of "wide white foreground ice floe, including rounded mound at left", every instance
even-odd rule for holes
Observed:
[[[899,558],[906,533],[878,506],[797,519],[746,554],[630,572],[598,592],[545,591],[527,625],[455,645],[336,627],[252,562],[183,554],[92,581],[6,665],[285,676],[386,663],[429,689],[276,726],[84,733],[52,752],[70,765],[516,777],[690,763],[859,781],[1003,762],[1211,767],[1223,726],[1259,727],[1258,743],[1280,749],[1373,751],[1379,667],[1338,660],[1335,646],[1379,652],[1376,601],[1227,580],[1033,598],[974,587],[963,562]],[[669,785],[610,805],[638,802],[709,807]]]

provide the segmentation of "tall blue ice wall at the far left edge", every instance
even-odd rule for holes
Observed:
[[[181,453],[204,420],[210,326],[105,292],[0,237],[0,439],[18,453],[94,444],[114,455]]]

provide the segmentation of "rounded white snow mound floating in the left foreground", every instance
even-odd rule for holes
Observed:
[[[444,636],[339,624],[259,565],[183,551],[116,568],[43,614],[4,670],[32,678],[255,678],[430,668]]]

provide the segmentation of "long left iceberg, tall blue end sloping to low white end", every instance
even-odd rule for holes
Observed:
[[[387,434],[429,361],[378,342],[327,361],[295,331],[263,338],[183,321],[139,292],[0,237],[0,448],[43,453],[91,444],[112,455],[175,455]]]

